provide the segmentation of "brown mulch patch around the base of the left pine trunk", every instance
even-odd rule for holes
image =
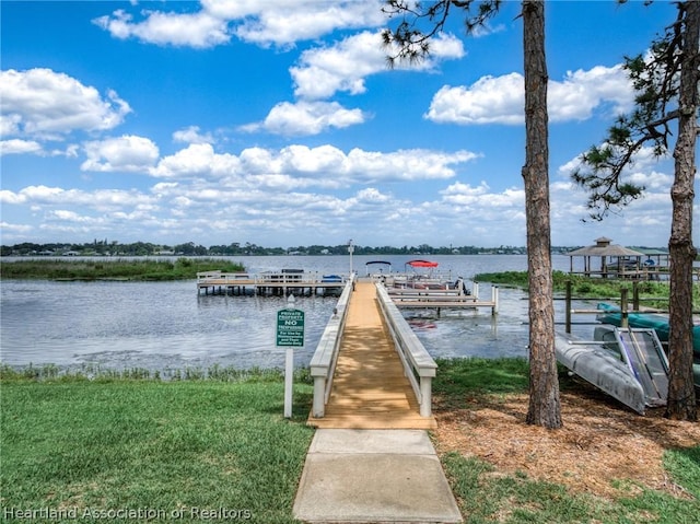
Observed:
[[[665,474],[662,455],[698,445],[700,423],[667,420],[663,408],[639,416],[585,384],[562,392],[561,403],[564,427],[546,430],[525,424],[527,395],[466,396],[464,407],[436,399],[438,451],[606,498],[640,487],[688,496]]]

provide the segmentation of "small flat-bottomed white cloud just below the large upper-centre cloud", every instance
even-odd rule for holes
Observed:
[[[341,129],[365,119],[361,109],[346,109],[337,102],[282,102],[277,104],[265,121],[243,126],[244,131],[265,129],[284,136],[318,135],[330,128]]]

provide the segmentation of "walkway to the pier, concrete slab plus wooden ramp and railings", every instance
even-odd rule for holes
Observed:
[[[343,291],[312,359],[308,423],[318,430],[294,517],[310,524],[460,523],[425,431],[435,428],[435,363],[383,286],[352,287]]]

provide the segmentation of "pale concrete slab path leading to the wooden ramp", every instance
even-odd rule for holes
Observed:
[[[294,517],[307,523],[462,522],[422,430],[317,430]]]

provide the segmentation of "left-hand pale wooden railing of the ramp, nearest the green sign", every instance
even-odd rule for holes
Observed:
[[[340,339],[346,325],[348,305],[350,304],[350,295],[352,294],[353,287],[354,276],[346,283],[338,304],[332,312],[332,316],[330,321],[328,321],[326,329],[318,341],[318,346],[316,346],[316,351],[311,359],[311,375],[314,379],[312,416],[316,418],[323,418],[325,415],[326,404],[330,396],[332,375],[336,371]]]

